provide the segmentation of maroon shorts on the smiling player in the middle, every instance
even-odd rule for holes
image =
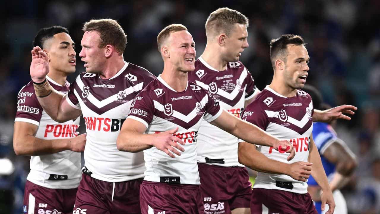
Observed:
[[[142,214],[204,214],[198,185],[144,180],[140,187]]]

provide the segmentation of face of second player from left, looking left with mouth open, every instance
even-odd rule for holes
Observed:
[[[99,48],[100,35],[96,31],[86,31],[81,41],[82,50],[79,56],[88,73],[101,73],[105,67],[105,48]]]

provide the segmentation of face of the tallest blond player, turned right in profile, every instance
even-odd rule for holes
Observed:
[[[245,24],[234,24],[231,35],[225,38],[225,48],[222,56],[226,62],[239,60],[244,48],[249,46],[247,42],[248,32]]]

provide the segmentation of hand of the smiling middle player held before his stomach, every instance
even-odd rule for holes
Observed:
[[[165,152],[172,158],[176,157],[173,155],[173,153],[175,153],[176,155],[181,155],[181,153],[178,150],[184,152],[185,149],[181,147],[178,143],[185,145],[185,142],[179,139],[178,137],[173,136],[173,134],[177,131],[178,127],[169,131],[165,131],[163,133],[155,134],[154,142],[152,143],[153,146]]]

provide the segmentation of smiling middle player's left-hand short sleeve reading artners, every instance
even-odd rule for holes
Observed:
[[[127,117],[143,123],[146,128],[148,128],[154,116],[154,101],[150,97],[147,91],[139,93],[135,99],[133,99],[130,113]]]

